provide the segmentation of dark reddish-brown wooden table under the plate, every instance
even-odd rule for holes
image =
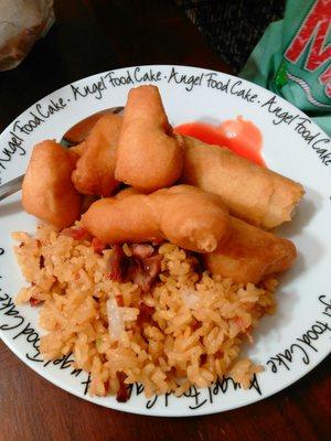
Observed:
[[[97,72],[162,63],[231,71],[171,1],[58,0],[56,15],[56,24],[23,64],[0,73],[0,130],[44,95]],[[83,401],[38,376],[2,342],[0,373],[0,441],[330,439],[330,357],[260,402],[180,419]]]

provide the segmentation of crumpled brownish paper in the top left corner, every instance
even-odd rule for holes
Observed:
[[[0,71],[20,64],[53,23],[53,0],[0,0]]]

